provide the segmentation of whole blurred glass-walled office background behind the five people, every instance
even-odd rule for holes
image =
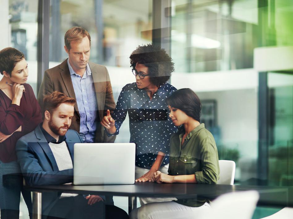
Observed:
[[[72,26],[91,34],[91,61],[107,66],[115,101],[135,80],[130,53],[165,48],[171,84],[202,100],[219,160],[236,162],[235,184],[293,186],[292,0],[1,0],[0,19],[0,49],[25,54],[35,94],[44,70],[66,59]],[[127,124],[116,142],[129,142]],[[127,209],[127,198],[117,202]],[[254,218],[277,210],[258,207]]]

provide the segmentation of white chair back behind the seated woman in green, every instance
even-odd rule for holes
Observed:
[[[219,160],[220,179],[217,184],[234,185],[235,162],[233,160]]]

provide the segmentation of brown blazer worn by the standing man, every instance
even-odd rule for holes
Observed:
[[[92,62],[88,62],[88,64],[90,66],[91,75],[94,81],[96,99],[98,103],[99,119],[101,121],[104,115],[106,115],[106,110],[114,110],[116,106],[114,102],[112,86],[108,70],[105,66],[98,65]],[[38,94],[38,102],[40,104],[43,114],[43,98],[45,95],[52,93],[53,91],[60,91],[65,95],[76,99],[71,81],[70,71],[67,64],[67,59],[60,65],[57,65],[45,71],[44,79],[41,83]],[[79,127],[80,116],[77,103],[75,103],[74,116],[71,121],[70,129],[74,129],[79,133]],[[106,134],[104,134],[104,127],[101,126],[100,122],[97,124],[96,143],[114,142],[115,138],[116,136],[108,137]]]

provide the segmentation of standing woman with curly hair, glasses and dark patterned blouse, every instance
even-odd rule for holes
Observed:
[[[174,63],[164,49],[148,44],[132,52],[130,64],[136,82],[122,88],[115,110],[112,115],[108,110],[101,124],[109,136],[118,135],[128,112],[130,142],[136,144],[135,178],[146,182],[156,171],[168,171],[169,156],[165,155],[169,152],[170,136],[177,131],[168,117],[166,103],[176,91],[167,83]]]

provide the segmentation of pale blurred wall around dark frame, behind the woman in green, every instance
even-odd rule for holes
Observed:
[[[240,157],[257,157],[257,90],[197,92],[201,100],[217,102],[221,143],[236,148]]]

